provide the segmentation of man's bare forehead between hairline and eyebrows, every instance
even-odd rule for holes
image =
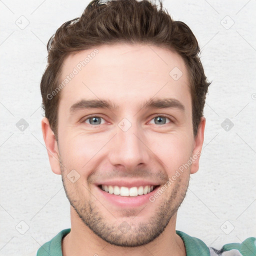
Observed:
[[[63,83],[63,81],[65,81]],[[190,106],[188,74],[175,52],[154,45],[101,45],[70,54],[63,62],[59,108],[81,99],[109,99],[135,108],[153,96],[174,97]]]

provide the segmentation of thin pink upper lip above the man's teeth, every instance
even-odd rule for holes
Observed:
[[[116,186],[126,186],[126,187],[133,187],[133,186],[145,186],[145,185],[153,185],[157,186],[159,183],[150,181],[150,180],[128,180],[128,179],[114,179],[114,180],[105,180],[102,182],[97,182],[96,185],[116,185]]]

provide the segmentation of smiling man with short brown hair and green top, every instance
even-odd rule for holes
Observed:
[[[175,230],[209,86],[189,27],[161,2],[93,0],[47,47],[42,132],[71,228],[37,255],[255,255],[253,237],[217,250]]]

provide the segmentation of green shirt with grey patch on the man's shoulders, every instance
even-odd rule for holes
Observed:
[[[63,229],[50,241],[45,242],[36,253],[36,256],[62,256],[61,240],[70,232],[70,228]],[[202,240],[176,230],[185,245],[186,256],[255,256],[256,237],[249,237],[241,243],[227,243],[221,249],[208,247]]]

